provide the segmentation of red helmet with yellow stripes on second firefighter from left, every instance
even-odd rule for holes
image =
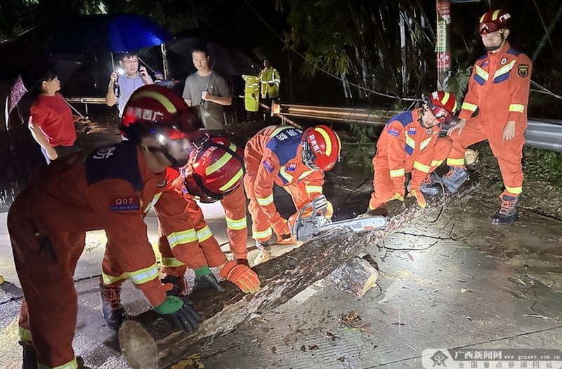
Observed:
[[[224,137],[205,137],[190,153],[186,178],[213,199],[222,199],[242,184],[244,151]],[[189,187],[188,187],[189,188]]]

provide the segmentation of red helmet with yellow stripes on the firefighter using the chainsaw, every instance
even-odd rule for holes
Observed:
[[[341,161],[341,142],[338,135],[328,126],[307,128],[301,139],[303,163],[313,170],[330,170]]]

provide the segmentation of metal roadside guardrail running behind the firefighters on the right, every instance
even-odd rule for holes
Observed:
[[[384,125],[398,112],[374,110],[368,107],[318,107],[272,102],[271,115],[291,118],[318,119],[344,123]],[[443,128],[443,132],[447,132]],[[525,146],[562,152],[562,120],[529,119],[525,131]]]

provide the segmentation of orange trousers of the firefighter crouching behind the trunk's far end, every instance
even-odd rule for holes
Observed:
[[[431,173],[445,160],[451,150],[451,145],[449,139],[438,138],[433,149],[423,151],[417,156],[408,156],[404,163],[404,173],[411,172],[412,178],[414,176],[420,176],[423,179],[427,173],[421,173],[419,170],[414,169],[414,161],[428,163],[429,173]],[[369,208],[376,209],[380,208],[391,199],[394,194],[394,182],[391,178],[390,168],[388,167],[387,156],[375,155],[372,163],[374,168],[374,192],[371,194]]]

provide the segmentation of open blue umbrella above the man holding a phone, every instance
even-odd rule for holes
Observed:
[[[84,15],[65,27],[51,50],[69,54],[131,53],[171,38],[166,29],[142,15]]]

